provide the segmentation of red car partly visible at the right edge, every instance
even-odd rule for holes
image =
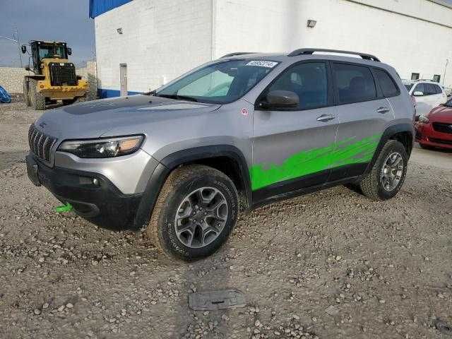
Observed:
[[[416,117],[416,141],[422,148],[452,149],[452,99]]]

